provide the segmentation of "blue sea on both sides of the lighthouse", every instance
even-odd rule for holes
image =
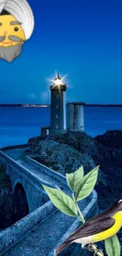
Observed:
[[[0,107],[0,147],[28,143],[50,125],[50,107]],[[84,106],[84,132],[92,137],[122,129],[122,107]]]

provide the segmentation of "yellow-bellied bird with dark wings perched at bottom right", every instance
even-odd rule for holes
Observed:
[[[81,243],[82,248],[87,244],[96,243],[111,236],[120,230],[122,226],[122,198],[117,199],[108,209],[86,221],[77,228],[65,242],[54,250],[57,256],[71,243]]]

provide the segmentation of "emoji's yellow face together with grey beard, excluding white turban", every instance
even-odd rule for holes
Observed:
[[[20,20],[6,10],[0,14],[0,58],[8,62],[20,55],[26,41]]]

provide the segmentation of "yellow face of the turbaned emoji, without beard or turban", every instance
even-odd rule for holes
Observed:
[[[25,40],[20,20],[11,14],[0,15],[0,47],[17,46]]]

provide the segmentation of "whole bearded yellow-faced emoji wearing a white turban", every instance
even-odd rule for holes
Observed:
[[[20,56],[34,29],[34,16],[26,0],[0,0],[0,58],[8,62]]]

